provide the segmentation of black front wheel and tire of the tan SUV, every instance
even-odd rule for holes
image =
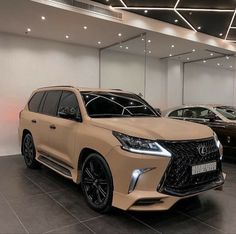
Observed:
[[[110,169],[102,156],[90,154],[82,165],[81,189],[90,208],[107,213],[112,207],[113,182]]]

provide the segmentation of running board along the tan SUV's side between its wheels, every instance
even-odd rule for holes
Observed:
[[[64,175],[65,177],[71,178],[71,172],[68,168],[64,167],[63,165],[59,164],[52,158],[46,157],[44,155],[39,155],[38,160],[42,162],[45,166],[50,167],[56,172],[59,172],[60,174]]]

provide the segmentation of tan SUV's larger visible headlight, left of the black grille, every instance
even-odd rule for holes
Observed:
[[[156,141],[128,136],[115,131],[113,131],[113,135],[119,140],[124,150],[139,154],[171,157],[171,153]]]

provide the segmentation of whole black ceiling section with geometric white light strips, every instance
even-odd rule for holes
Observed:
[[[93,0],[116,9],[236,41],[236,0]],[[229,38],[228,38],[229,36]]]

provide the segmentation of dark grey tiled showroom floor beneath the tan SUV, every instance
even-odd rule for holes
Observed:
[[[183,200],[166,212],[108,215],[90,210],[79,186],[20,156],[0,157],[0,233],[236,233],[236,164],[224,163],[224,191]]]

